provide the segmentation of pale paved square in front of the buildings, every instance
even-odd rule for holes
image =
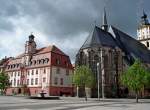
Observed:
[[[88,99],[61,97],[60,100],[37,100],[0,96],[0,110],[150,110],[150,99]]]

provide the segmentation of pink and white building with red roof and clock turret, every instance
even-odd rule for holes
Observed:
[[[37,95],[73,95],[73,67],[68,55],[56,46],[36,48],[34,35],[29,36],[25,44],[25,52],[10,58],[5,65],[9,75],[10,88],[6,94],[27,92]]]

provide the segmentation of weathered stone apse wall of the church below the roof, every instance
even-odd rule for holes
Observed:
[[[87,65],[92,69],[92,72],[97,79],[97,63],[100,63],[100,91],[102,88],[102,69],[104,71],[105,96],[112,97],[117,92],[115,88],[119,86],[117,77],[123,72],[123,53],[119,48],[110,47],[90,47],[82,49],[77,54],[76,66]],[[103,60],[102,60],[103,59]],[[102,68],[103,66],[103,68]],[[97,89],[97,84],[96,84]],[[95,90],[96,90],[95,89]],[[96,97],[93,91],[94,97]]]

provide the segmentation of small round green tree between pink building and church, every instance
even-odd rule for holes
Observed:
[[[73,83],[77,87],[83,87],[84,89],[86,87],[91,88],[95,84],[95,78],[91,71],[91,69],[87,66],[77,66],[74,71],[73,75]],[[78,91],[77,91],[78,92]],[[85,93],[85,100],[87,100],[87,94]]]

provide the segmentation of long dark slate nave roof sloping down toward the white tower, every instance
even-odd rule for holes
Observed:
[[[150,63],[150,51],[144,46],[144,44],[113,26],[110,26],[109,32],[113,35],[118,46],[127,56],[134,59],[141,59],[145,63]]]

